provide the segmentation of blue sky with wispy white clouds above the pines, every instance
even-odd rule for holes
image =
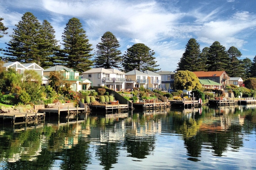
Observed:
[[[47,20],[61,35],[67,22],[76,17],[94,50],[102,35],[110,31],[119,41],[122,54],[135,43],[154,50],[161,71],[175,71],[190,38],[200,49],[218,41],[228,50],[235,46],[239,59],[256,55],[255,0],[0,0],[0,17],[8,34],[0,38],[6,48],[13,29],[26,12],[42,23]]]

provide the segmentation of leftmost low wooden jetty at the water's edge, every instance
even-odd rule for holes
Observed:
[[[44,113],[4,113],[0,114],[3,121],[11,120],[12,124],[32,123],[45,120]]]

